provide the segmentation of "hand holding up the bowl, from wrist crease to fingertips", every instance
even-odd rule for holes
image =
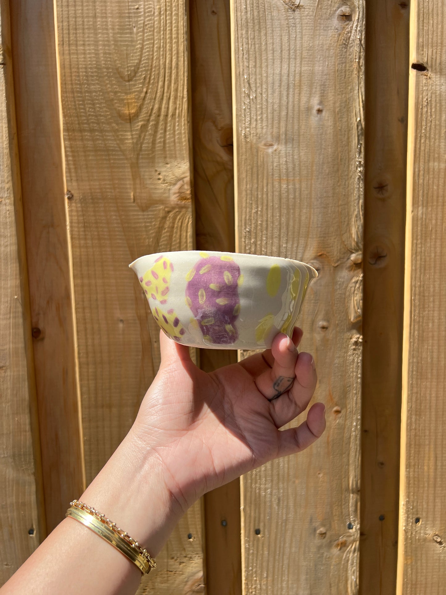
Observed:
[[[274,458],[312,444],[325,429],[315,403],[297,428],[279,430],[305,411],[316,387],[314,359],[278,334],[271,350],[207,374],[189,348],[161,333],[161,367],[147,391],[133,433],[164,467],[183,510],[206,491]]]

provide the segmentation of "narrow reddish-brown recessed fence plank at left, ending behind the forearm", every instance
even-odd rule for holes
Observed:
[[[85,488],[52,0],[11,2],[48,531]]]

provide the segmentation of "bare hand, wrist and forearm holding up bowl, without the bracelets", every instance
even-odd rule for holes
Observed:
[[[279,334],[271,350],[206,374],[188,347],[161,334],[161,367],[136,421],[81,501],[156,556],[203,493],[309,446],[325,429],[322,403],[297,428],[279,430],[307,408],[316,387],[312,356],[294,346],[301,336],[295,329],[293,343]],[[140,578],[130,560],[66,518],[4,590],[52,593],[63,585],[64,593],[130,594]]]

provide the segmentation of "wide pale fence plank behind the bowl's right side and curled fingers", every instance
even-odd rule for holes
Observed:
[[[327,418],[306,452],[243,477],[244,592],[357,593],[365,6],[231,7],[238,248],[318,268],[302,347]]]

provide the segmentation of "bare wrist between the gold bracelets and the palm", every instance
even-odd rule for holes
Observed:
[[[155,557],[184,513],[155,451],[131,430],[80,500],[102,512]]]

